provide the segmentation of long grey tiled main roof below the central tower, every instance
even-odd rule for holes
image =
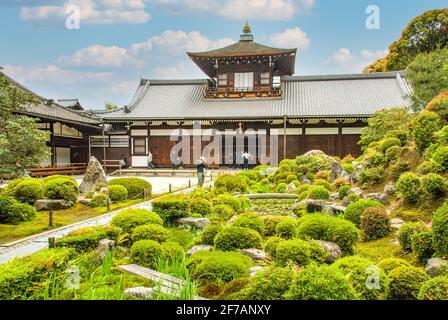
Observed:
[[[207,80],[142,80],[127,109],[106,121],[367,118],[410,106],[404,72],[283,77],[281,98],[205,99]]]

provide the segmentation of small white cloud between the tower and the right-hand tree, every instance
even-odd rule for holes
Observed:
[[[362,72],[366,66],[376,59],[386,56],[387,53],[387,50],[371,51],[363,49],[359,54],[355,54],[350,49],[340,48],[325,63],[336,67],[342,72]]]

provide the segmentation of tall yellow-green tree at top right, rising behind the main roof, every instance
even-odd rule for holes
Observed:
[[[429,10],[414,18],[389,46],[387,57],[380,58],[364,72],[404,70],[423,52],[432,52],[448,44],[448,9]]]

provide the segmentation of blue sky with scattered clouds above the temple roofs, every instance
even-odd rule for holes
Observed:
[[[298,48],[296,75],[360,73],[447,0],[0,0],[0,66],[48,99],[130,102],[140,79],[205,76],[187,51]],[[79,19],[78,19],[79,17]]]

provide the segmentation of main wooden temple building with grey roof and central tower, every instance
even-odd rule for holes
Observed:
[[[151,152],[157,166],[168,167],[172,148],[182,139],[205,133],[216,138],[223,132],[238,139],[238,132],[251,129],[256,138],[246,137],[243,147],[235,144],[233,152],[215,148],[217,166],[235,163],[242,152],[237,148],[256,150],[251,152],[257,155],[254,162],[261,163],[259,140],[272,147],[273,137],[278,160],[314,149],[357,156],[369,117],[381,109],[410,105],[412,89],[404,72],[293,76],[296,55],[297,49],[255,42],[246,24],[239,42],[188,53],[207,78],[142,79],[128,106],[101,114],[111,127],[106,145],[101,137],[91,138],[92,154],[101,159],[107,147],[109,159],[127,155],[131,166],[145,167]],[[195,124],[202,131],[193,130]],[[173,132],[178,139],[172,138]],[[210,142],[201,143],[206,148]],[[195,152],[188,153],[194,164]]]

